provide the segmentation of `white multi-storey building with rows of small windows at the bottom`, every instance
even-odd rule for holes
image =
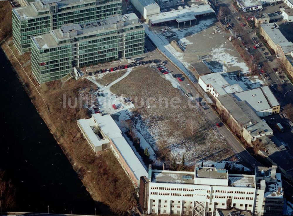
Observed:
[[[245,175],[214,167],[195,167],[194,172],[152,170],[150,165],[149,178],[140,180],[139,202],[148,214],[212,216],[218,208],[235,207],[268,215],[268,207],[269,215],[280,215],[284,196],[275,170],[260,167],[257,175]],[[270,201],[278,203],[269,207]]]

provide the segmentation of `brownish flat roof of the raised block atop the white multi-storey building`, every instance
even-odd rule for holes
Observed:
[[[196,178],[208,179],[227,179],[228,171],[226,169],[216,169],[214,167],[196,167]]]

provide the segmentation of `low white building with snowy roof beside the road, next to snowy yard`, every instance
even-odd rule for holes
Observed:
[[[220,95],[242,92],[243,89],[238,85],[230,85],[220,73],[210,73],[198,78],[198,84],[205,91],[213,95],[214,98]]]

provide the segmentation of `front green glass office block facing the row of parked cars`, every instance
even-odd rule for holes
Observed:
[[[31,41],[32,72],[38,83],[45,83],[64,77],[74,67],[143,54],[144,28],[130,13],[65,25]]]

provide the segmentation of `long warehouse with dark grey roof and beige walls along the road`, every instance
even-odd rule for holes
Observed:
[[[258,117],[251,106],[246,101],[237,100],[235,95],[219,96],[216,104],[218,112],[233,125],[233,131],[243,136],[248,144],[273,134],[272,129]]]

